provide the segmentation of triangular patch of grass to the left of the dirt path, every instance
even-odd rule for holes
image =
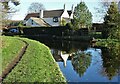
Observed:
[[[14,58],[21,51],[22,47],[25,45],[21,40],[12,39],[9,37],[1,36],[1,49],[2,49],[2,72],[8,66],[8,64],[14,60]],[[0,74],[1,75],[1,74]]]

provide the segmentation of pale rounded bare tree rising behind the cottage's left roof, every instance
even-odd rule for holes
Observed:
[[[30,7],[28,8],[28,13],[38,13],[40,10],[45,10],[45,7],[42,3],[34,2],[31,3]]]

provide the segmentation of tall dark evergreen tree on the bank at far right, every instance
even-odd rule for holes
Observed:
[[[113,33],[113,28],[118,28],[118,6],[115,2],[111,2],[110,7],[108,8],[107,14],[104,17],[104,28],[102,31],[103,37],[107,38],[110,36],[110,33]]]

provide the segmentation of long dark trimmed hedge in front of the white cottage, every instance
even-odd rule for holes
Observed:
[[[25,35],[41,35],[46,34],[48,36],[62,36],[62,32],[65,32],[68,28],[66,26],[54,26],[54,27],[24,27],[23,33]]]

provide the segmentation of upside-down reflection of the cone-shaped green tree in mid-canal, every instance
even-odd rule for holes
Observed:
[[[72,65],[74,70],[79,74],[80,77],[83,76],[84,72],[90,66],[91,55],[90,53],[77,52],[72,58]]]

